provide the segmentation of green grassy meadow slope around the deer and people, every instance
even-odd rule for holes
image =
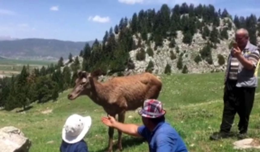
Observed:
[[[213,74],[173,74],[162,76],[163,88],[159,100],[167,110],[166,120],[179,132],[191,152],[230,151],[236,138],[210,141],[209,136],[219,130],[223,110],[224,73]],[[67,90],[60,94],[56,102],[32,104],[33,108],[25,113],[0,111],[0,127],[13,125],[20,128],[31,139],[31,152],[56,152],[61,143],[61,130],[73,113],[90,115],[93,125],[85,140],[90,151],[103,152],[108,145],[108,128],[100,121],[106,116],[102,107],[93,103],[88,97],[67,100]],[[249,123],[249,135],[260,136],[260,98],[256,90],[255,104]],[[53,109],[50,114],[42,114],[46,109]],[[17,109],[16,109],[17,110]],[[128,116],[132,118],[128,118]],[[126,114],[126,123],[141,124],[140,116],[130,111]],[[237,132],[236,117],[232,131]],[[114,134],[115,150],[117,131]],[[54,141],[47,144],[48,141]],[[148,151],[148,145],[139,138],[123,135],[123,151]],[[256,152],[257,150],[247,150]]]

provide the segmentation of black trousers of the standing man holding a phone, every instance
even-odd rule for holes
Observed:
[[[254,98],[255,87],[236,87],[236,81],[227,80],[224,88],[224,109],[220,131],[229,132],[235,115],[238,113],[240,117],[239,133],[247,133]]]

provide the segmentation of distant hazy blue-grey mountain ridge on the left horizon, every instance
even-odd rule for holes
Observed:
[[[92,44],[93,41],[88,43]],[[67,58],[71,52],[78,55],[85,42],[61,41],[53,39],[20,39],[0,41],[0,55],[10,58]]]

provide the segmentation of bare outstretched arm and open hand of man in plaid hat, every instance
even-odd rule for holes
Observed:
[[[138,133],[138,125],[135,124],[124,124],[121,122],[117,122],[114,117],[108,116],[108,117],[102,117],[103,124],[116,128],[120,131],[122,131],[125,134],[141,137]]]

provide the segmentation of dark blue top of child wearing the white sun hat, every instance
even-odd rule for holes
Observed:
[[[75,144],[68,144],[65,141],[62,141],[60,152],[88,152],[88,146],[84,140]]]

